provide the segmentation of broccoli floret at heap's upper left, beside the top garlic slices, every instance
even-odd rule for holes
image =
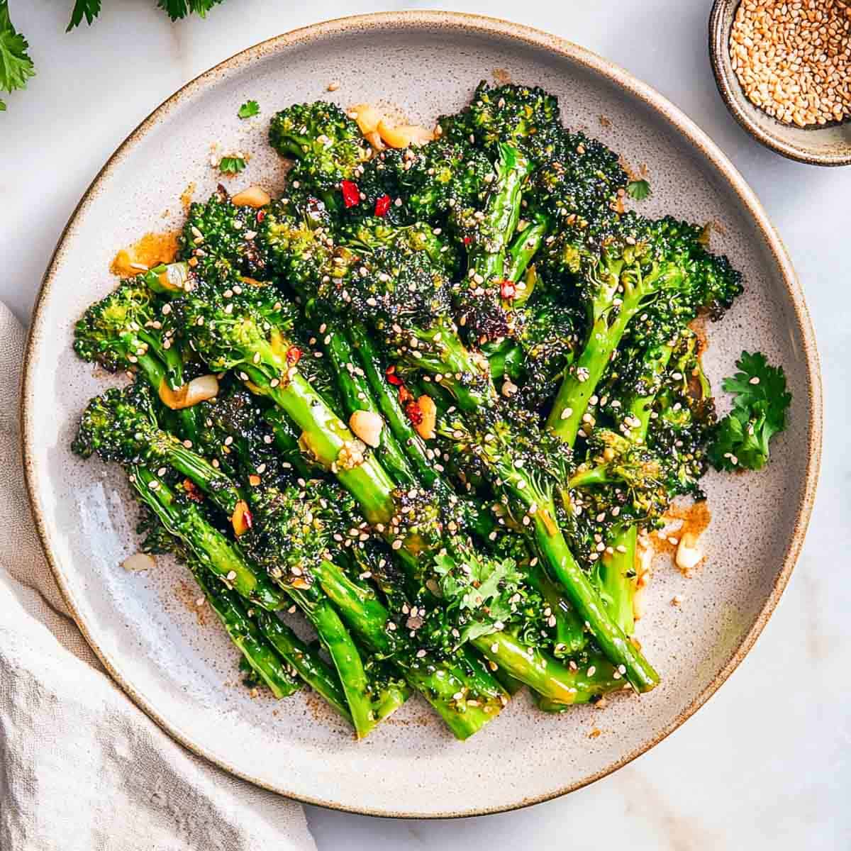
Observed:
[[[340,183],[356,180],[369,156],[357,123],[323,100],[278,112],[271,119],[269,142],[283,157],[296,160],[289,174],[295,191],[311,192],[335,207],[342,205]]]

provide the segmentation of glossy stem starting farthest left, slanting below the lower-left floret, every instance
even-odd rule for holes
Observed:
[[[197,560],[220,580],[225,580],[240,597],[269,611],[287,605],[283,592],[245,562],[226,537],[211,526],[196,505],[178,502],[174,492],[150,470],[139,465],[128,468],[130,483],[163,526],[182,540]]]

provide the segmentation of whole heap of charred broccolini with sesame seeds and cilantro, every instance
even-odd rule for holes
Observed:
[[[338,106],[283,109],[283,195],[192,204],[174,264],[76,328],[134,381],[75,451],[123,465],[254,681],[358,736],[414,692],[464,739],[523,686],[545,711],[654,688],[639,539],[710,461],[764,464],[789,402],[748,356],[717,423],[691,326],[740,276],[624,212],[553,95],[483,83],[438,131],[375,150]]]

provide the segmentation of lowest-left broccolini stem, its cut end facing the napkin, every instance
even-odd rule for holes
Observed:
[[[277,698],[283,698],[298,691],[300,683],[287,671],[271,644],[248,617],[237,593],[228,591],[219,580],[211,578],[207,568],[197,561],[191,563],[191,571],[231,641],[237,645],[252,670],[271,689],[271,693]],[[274,619],[274,615],[267,616]]]

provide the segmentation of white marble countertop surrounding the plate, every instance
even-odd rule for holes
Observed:
[[[26,321],[94,174],[191,77],[297,26],[412,5],[453,5],[568,37],[659,89],[717,141],[768,208],[807,294],[825,381],[825,463],[807,545],[774,618],[668,740],[585,790],[516,813],[425,822],[308,808],[319,848],[851,848],[851,168],[788,162],[740,130],[711,78],[705,0],[228,0],[208,20],[178,26],[153,0],[107,0],[95,26],[68,35],[71,0],[11,0],[38,76],[0,116],[0,299]]]

